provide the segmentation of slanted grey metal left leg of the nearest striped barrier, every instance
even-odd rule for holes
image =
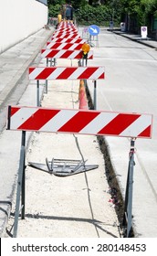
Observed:
[[[19,163],[19,168],[18,168],[18,179],[17,179],[16,213],[15,213],[13,238],[16,238],[16,235],[17,235],[18,216],[19,216],[19,209],[20,209],[20,196],[21,196],[21,188],[22,188],[22,181],[23,181],[24,161],[25,161],[25,145],[24,145],[24,133],[22,133],[20,163]]]

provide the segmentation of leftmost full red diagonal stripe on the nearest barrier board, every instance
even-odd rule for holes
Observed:
[[[21,124],[19,130],[38,131],[45,125],[51,118],[53,118],[59,111],[58,110],[43,110],[38,109],[32,116],[30,116],[25,123]]]

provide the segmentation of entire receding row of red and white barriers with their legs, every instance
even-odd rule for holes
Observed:
[[[126,112],[98,111],[97,80],[105,79],[104,67],[88,67],[88,59],[93,59],[85,40],[78,35],[77,28],[70,22],[61,22],[53,33],[47,48],[41,49],[41,57],[47,58],[47,67],[29,67],[29,80],[37,80],[37,106],[8,106],[7,130],[22,131],[20,164],[18,170],[16,192],[16,214],[13,237],[17,235],[18,217],[21,200],[21,218],[25,219],[25,168],[26,168],[26,132],[48,133],[80,133],[105,136],[120,136],[131,138],[131,151],[126,185],[123,227],[124,237],[131,237],[132,184],[134,166],[134,144],[137,138],[152,137],[152,115]],[[78,67],[57,67],[56,59],[78,59]],[[80,61],[81,60],[81,61]],[[85,61],[84,61],[85,60]],[[49,66],[50,63],[50,66]],[[93,80],[94,81],[94,110],[54,109],[40,107],[39,81],[47,80]],[[79,99],[83,100],[82,98]],[[73,165],[73,164],[71,164]],[[71,168],[71,165],[68,165]],[[93,168],[96,168],[94,166]],[[49,172],[54,174],[55,162],[48,163]],[[65,168],[65,166],[64,166]],[[85,163],[74,165],[73,173],[88,171]],[[63,169],[60,176],[64,176]],[[70,175],[72,175],[72,172]]]

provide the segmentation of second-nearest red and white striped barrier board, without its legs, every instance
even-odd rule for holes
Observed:
[[[31,67],[29,80],[104,80],[104,67]]]

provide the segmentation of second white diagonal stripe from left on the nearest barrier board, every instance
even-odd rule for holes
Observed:
[[[39,131],[58,132],[65,123],[67,123],[78,111],[61,110],[51,120],[49,120]]]

